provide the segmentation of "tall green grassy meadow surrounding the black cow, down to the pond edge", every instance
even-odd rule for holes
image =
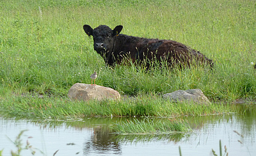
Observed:
[[[256,99],[255,1],[16,0],[1,1],[0,10],[1,114],[64,118],[111,114],[180,116],[230,111],[221,105],[210,108],[183,105],[179,109],[170,104],[173,107],[164,105],[164,108],[163,100],[158,97],[194,88],[201,89],[213,103]],[[104,24],[112,29],[122,25],[121,33],[126,35],[184,43],[213,59],[214,70],[156,68],[148,72],[134,65],[109,68],[93,51],[93,39],[84,33],[84,24],[92,27]],[[137,100],[116,102],[119,107],[115,102],[92,101],[89,107],[83,102],[70,102],[69,88],[76,82],[90,84],[93,70],[99,75],[98,85],[138,97]],[[33,94],[53,99],[34,98]],[[145,97],[152,98],[145,100]],[[96,106],[91,109],[93,104]],[[143,105],[142,113],[138,113],[140,105]],[[106,110],[102,110],[105,106]],[[40,109],[35,111],[36,108]],[[47,112],[48,108],[58,109]]]

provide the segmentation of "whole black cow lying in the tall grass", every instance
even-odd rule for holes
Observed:
[[[83,26],[88,36],[93,36],[93,47],[104,58],[107,65],[122,63],[130,58],[133,63],[146,63],[147,68],[152,65],[150,61],[166,61],[168,66],[178,65],[180,68],[192,64],[209,65],[213,62],[204,54],[186,47],[186,45],[172,40],[158,40],[122,35],[123,26],[111,29],[108,26],[99,26],[95,29],[88,25]]]

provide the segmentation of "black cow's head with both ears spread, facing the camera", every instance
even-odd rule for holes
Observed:
[[[122,31],[123,26],[116,26],[115,29],[111,29],[108,26],[99,26],[95,29],[88,25],[84,25],[84,31],[88,36],[93,36],[94,50],[97,51],[101,56],[106,55],[108,52],[113,52],[113,46],[115,36]]]

